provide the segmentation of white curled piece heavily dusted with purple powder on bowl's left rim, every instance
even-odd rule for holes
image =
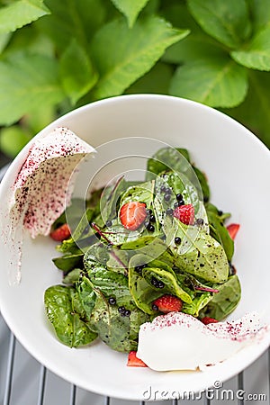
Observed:
[[[49,235],[52,223],[70,203],[76,166],[94,148],[67,128],[58,127],[34,141],[11,191],[8,239],[14,250],[10,283],[21,278],[23,231],[31,238]]]

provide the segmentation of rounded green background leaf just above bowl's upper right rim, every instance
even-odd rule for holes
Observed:
[[[227,55],[178,67],[170,94],[212,107],[233,107],[247,94],[247,71]]]

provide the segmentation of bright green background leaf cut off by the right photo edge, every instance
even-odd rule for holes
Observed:
[[[270,25],[258,31],[243,49],[234,50],[230,55],[245,67],[270,70]]]

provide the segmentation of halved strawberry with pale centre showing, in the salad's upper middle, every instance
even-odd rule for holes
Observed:
[[[130,201],[121,206],[120,220],[125,229],[136,230],[148,216],[144,202]]]

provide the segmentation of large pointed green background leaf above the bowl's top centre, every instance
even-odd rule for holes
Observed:
[[[138,21],[132,29],[123,19],[104,25],[94,36],[91,47],[100,74],[94,97],[121,94],[155,65],[169,45],[187,33],[153,16]]]

